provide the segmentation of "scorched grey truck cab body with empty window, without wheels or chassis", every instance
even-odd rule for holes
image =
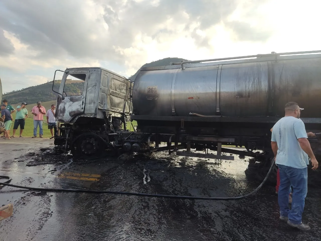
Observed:
[[[56,70],[61,71],[61,70]],[[55,76],[56,76],[55,72]],[[132,109],[132,82],[100,67],[66,68],[58,94],[56,120],[63,123],[103,122],[108,115],[128,120]],[[55,82],[56,81],[56,82]]]

